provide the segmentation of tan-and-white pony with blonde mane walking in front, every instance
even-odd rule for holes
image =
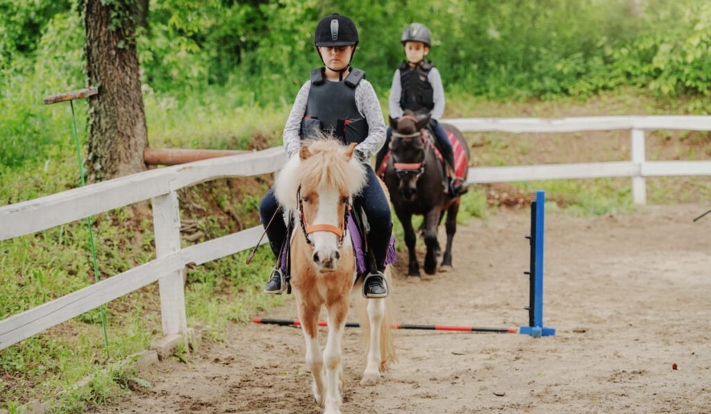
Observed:
[[[306,338],[306,364],[311,369],[316,403],[324,413],[341,413],[343,368],[341,339],[355,290],[367,300],[360,312],[368,349],[361,385],[373,385],[395,358],[385,298],[364,299],[356,280],[355,256],[346,220],[353,197],[365,184],[365,169],[353,157],[355,143],[344,147],[333,138],[305,141],[279,174],[274,194],[294,221],[291,239],[291,285]],[[387,277],[389,269],[386,268]],[[328,312],[328,339],[321,354],[319,312]],[[363,306],[361,306],[362,308]],[[325,372],[324,372],[325,371]]]

